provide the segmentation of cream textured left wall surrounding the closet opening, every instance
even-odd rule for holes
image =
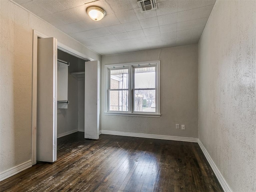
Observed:
[[[92,52],[8,0],[0,0],[0,173],[31,160],[32,30],[95,60]]]

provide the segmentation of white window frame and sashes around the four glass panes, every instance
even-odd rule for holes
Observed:
[[[139,88],[134,89],[134,76],[135,76],[135,68],[139,67],[148,67],[155,66],[155,104],[156,111],[155,112],[136,112],[134,111],[134,91],[135,90],[144,90],[147,88]],[[110,111],[110,91],[114,89],[110,89],[110,70],[120,69],[120,68],[128,68],[128,111]],[[147,62],[132,62],[132,63],[122,63],[122,64],[108,64],[105,65],[105,112],[106,115],[121,115],[121,116],[147,116],[147,117],[160,117],[160,61],[147,61]],[[120,89],[116,89],[120,90]],[[121,89],[122,90],[122,89]]]

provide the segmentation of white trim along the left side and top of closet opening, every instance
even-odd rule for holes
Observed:
[[[32,114],[31,114],[31,160],[32,165],[36,164],[36,111],[37,111],[37,39],[38,38],[48,38],[36,30],[33,30],[33,43],[32,43]],[[58,42],[58,49],[62,50],[70,55],[73,55],[77,58],[84,60],[94,61],[93,58],[90,58],[60,42]]]

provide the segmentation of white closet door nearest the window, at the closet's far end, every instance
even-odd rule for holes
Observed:
[[[99,62],[85,62],[84,138],[99,138]]]

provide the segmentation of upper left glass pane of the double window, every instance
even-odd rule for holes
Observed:
[[[110,89],[128,89],[128,69],[110,70]]]

